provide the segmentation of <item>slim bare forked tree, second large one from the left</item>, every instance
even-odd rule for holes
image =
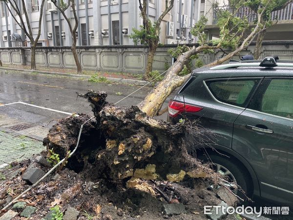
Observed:
[[[64,2],[63,0],[51,0],[54,5],[58,8],[58,10],[62,13],[64,19],[66,20],[69,30],[72,36],[72,44],[71,44],[71,51],[74,57],[75,65],[77,67],[77,73],[81,74],[82,71],[82,66],[81,63],[78,59],[78,55],[76,52],[76,30],[78,28],[78,16],[76,13],[76,8],[75,8],[75,0],[67,0],[67,2]],[[71,8],[71,9],[70,9]],[[65,14],[66,10],[72,10],[73,16],[74,16],[74,26],[72,26],[71,18],[68,18]]]

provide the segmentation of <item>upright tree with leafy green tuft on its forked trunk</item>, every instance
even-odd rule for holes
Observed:
[[[130,38],[133,39],[134,44],[147,44],[148,45],[148,55],[147,55],[147,66],[145,79],[149,80],[151,78],[150,72],[152,71],[152,64],[154,60],[155,52],[159,45],[159,36],[161,31],[161,22],[167,13],[172,9],[174,5],[174,0],[165,0],[165,10],[159,16],[157,21],[151,22],[147,17],[147,0],[139,0],[139,9],[141,11],[141,16],[143,18],[143,25],[141,29],[133,28],[133,33],[130,35]]]

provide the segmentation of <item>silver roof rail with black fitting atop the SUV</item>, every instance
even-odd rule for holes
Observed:
[[[261,66],[272,68],[276,66],[281,67],[293,67],[293,60],[275,60],[274,57],[266,57],[263,60],[248,60],[248,61],[239,61],[236,62],[232,60],[229,64],[223,64],[219,66],[211,67],[211,70],[218,70],[218,69],[229,69],[229,68],[237,68],[237,67],[254,67],[254,66]]]

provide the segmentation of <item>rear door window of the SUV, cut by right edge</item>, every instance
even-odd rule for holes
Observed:
[[[293,118],[293,79],[272,79],[263,95],[260,111]]]

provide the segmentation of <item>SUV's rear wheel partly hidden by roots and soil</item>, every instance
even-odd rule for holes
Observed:
[[[198,158],[204,164],[209,164],[214,171],[225,179],[225,186],[228,187],[238,197],[246,200],[251,196],[251,177],[247,170],[236,160],[227,156],[210,154]],[[211,186],[213,188],[213,186]]]

